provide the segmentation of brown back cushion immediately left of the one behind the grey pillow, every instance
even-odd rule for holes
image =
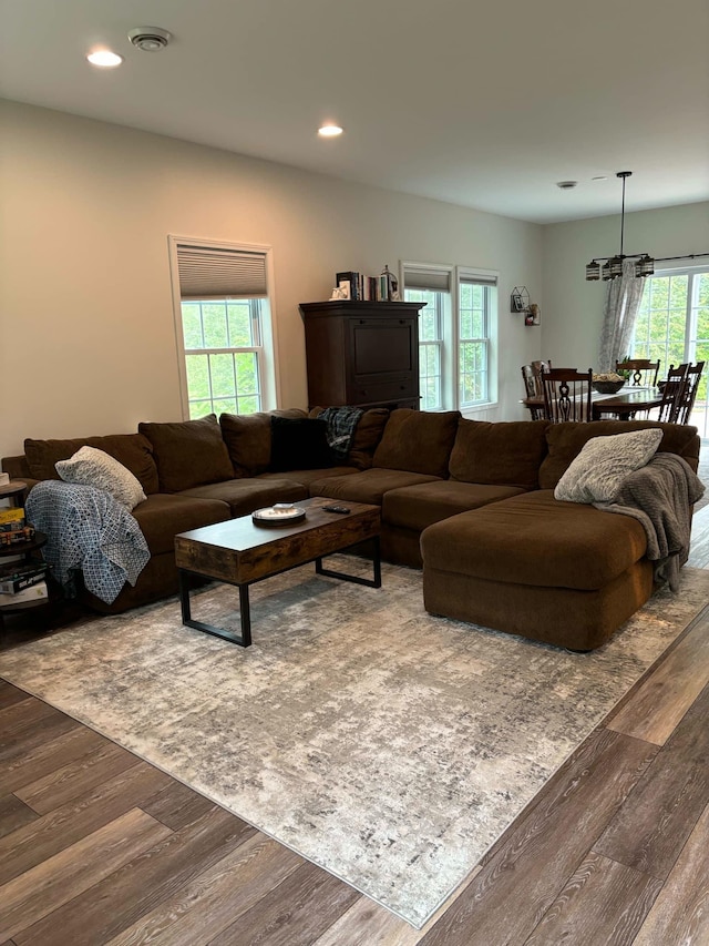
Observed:
[[[536,489],[547,426],[546,420],[461,419],[449,462],[451,479]]]

